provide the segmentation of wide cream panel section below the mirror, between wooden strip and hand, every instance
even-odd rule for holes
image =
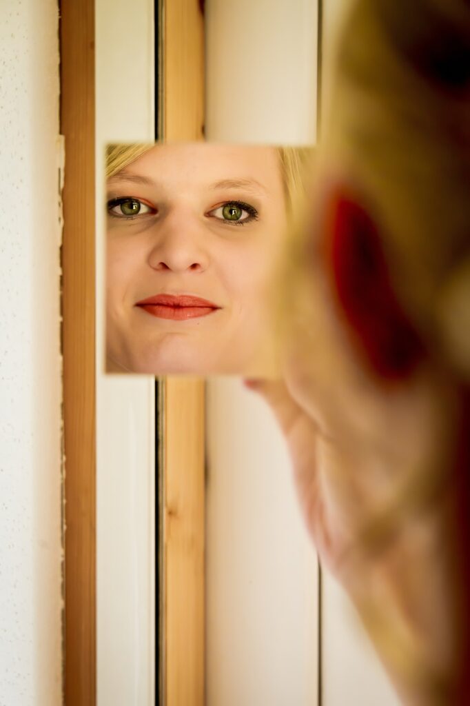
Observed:
[[[284,439],[236,378],[208,383],[207,706],[315,706],[318,563]]]

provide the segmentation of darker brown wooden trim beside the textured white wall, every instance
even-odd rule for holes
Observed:
[[[62,1],[66,706],[96,702],[94,39],[94,1]]]

